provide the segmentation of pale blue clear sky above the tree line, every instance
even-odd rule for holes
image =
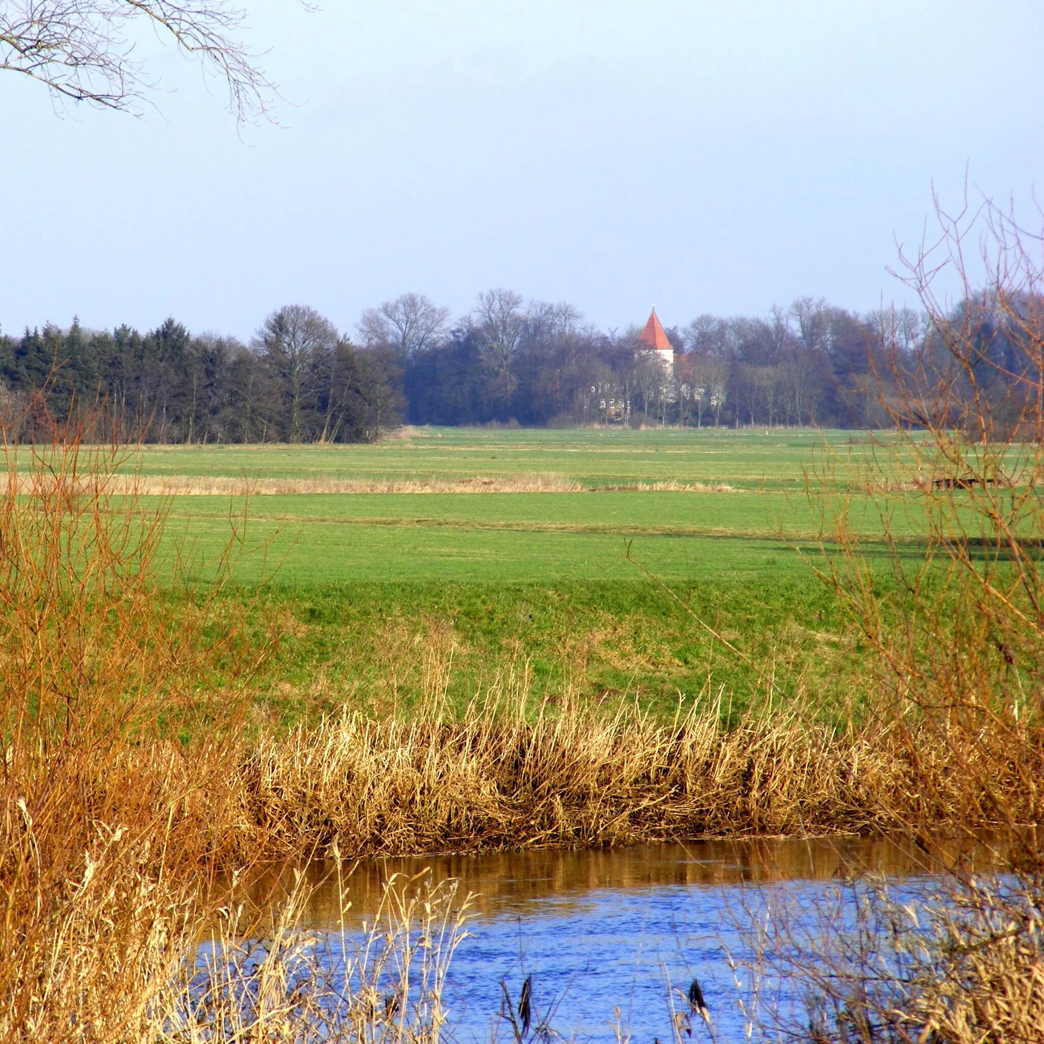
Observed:
[[[280,86],[237,126],[153,37],[143,117],[0,71],[0,329],[352,332],[507,287],[601,328],[916,304],[932,192],[1025,211],[1039,0],[239,0]]]

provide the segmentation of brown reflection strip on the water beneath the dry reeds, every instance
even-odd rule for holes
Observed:
[[[986,845],[975,848],[967,853],[973,862],[993,863]],[[384,882],[394,874],[411,877],[425,870],[435,880],[456,878],[461,897],[474,894],[475,914],[491,918],[523,909],[532,914],[551,900],[565,912],[591,893],[606,889],[828,880],[863,872],[907,877],[930,868],[924,853],[908,840],[884,837],[746,838],[371,859],[342,868],[350,920],[358,922],[373,914]],[[309,873],[317,887],[307,921],[315,927],[337,926],[341,907],[336,868],[313,864]]]

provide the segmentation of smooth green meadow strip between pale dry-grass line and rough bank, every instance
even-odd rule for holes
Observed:
[[[251,551],[236,568],[256,583],[278,563],[280,587],[636,578],[628,550],[671,578],[803,569],[801,542],[772,535],[772,506],[728,494],[257,497],[246,505]],[[229,511],[228,498],[179,497],[170,530],[210,560],[227,540]]]

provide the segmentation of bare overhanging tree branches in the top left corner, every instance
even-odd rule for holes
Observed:
[[[268,113],[275,86],[238,37],[231,0],[3,0],[0,70],[22,73],[60,98],[137,112],[156,87],[137,57],[153,30],[224,82],[238,120]]]

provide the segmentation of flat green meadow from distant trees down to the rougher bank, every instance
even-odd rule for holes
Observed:
[[[420,429],[401,441],[340,447],[148,447],[146,476],[248,476],[323,482],[445,481],[554,475],[586,492],[353,493],[179,496],[171,531],[205,560],[223,546],[229,517],[246,511],[250,544],[239,577],[254,583],[279,564],[280,586],[374,580],[536,582],[635,578],[631,556],[674,579],[728,578],[805,566],[817,509],[805,471],[827,440],[863,451],[848,432],[767,435],[720,431],[485,431]],[[737,492],[612,489],[674,482]],[[852,522],[879,532],[865,499]],[[896,531],[912,532],[900,520]]]

